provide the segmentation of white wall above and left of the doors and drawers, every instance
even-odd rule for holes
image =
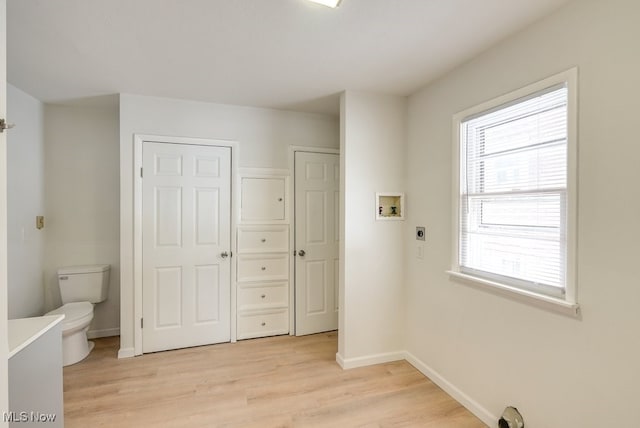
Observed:
[[[120,96],[120,355],[134,352],[134,134],[238,142],[239,166],[288,169],[289,146],[337,148],[337,118],[318,114],[122,94]]]

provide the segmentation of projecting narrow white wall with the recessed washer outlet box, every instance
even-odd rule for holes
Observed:
[[[376,192],[404,191],[407,100],[347,91],[341,99],[342,269],[338,362],[403,358],[404,222],[376,221]]]

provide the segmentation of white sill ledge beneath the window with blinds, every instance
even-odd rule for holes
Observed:
[[[522,290],[520,288],[501,284],[499,282],[494,282],[487,279],[478,278],[456,271],[447,271],[447,273],[454,280],[460,280],[460,282],[464,284],[489,289],[493,292],[496,292],[497,294],[515,298],[516,300],[533,304],[545,309],[550,309],[555,312],[560,312],[565,315],[577,317],[580,312],[580,306],[577,303],[567,302],[566,300],[556,297],[545,296],[544,294]]]

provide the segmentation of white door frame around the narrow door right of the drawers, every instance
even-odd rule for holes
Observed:
[[[291,302],[289,311],[289,335],[296,335],[296,152],[319,153],[325,155],[340,156],[340,149],[330,147],[307,147],[307,146],[289,146],[289,171],[291,177],[291,203],[289,204],[290,230],[289,234],[289,250],[291,251],[291,263],[289,264],[289,278],[291,278],[291,287],[289,287],[289,302]],[[342,181],[342,175],[340,176]],[[340,207],[342,210],[343,207]],[[342,263],[341,263],[342,264]]]

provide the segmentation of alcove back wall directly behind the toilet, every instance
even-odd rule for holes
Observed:
[[[90,336],[118,334],[118,106],[45,106],[47,306],[60,305],[61,266],[111,265],[108,299],[96,305]]]

